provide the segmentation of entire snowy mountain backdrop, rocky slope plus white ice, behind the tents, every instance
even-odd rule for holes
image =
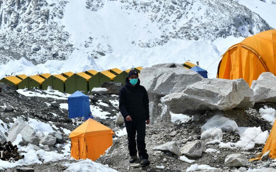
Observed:
[[[200,61],[203,68],[212,64],[208,72],[215,77],[217,59],[228,46],[241,36],[271,29],[237,0],[5,0],[0,4],[0,77],[124,70],[186,60]],[[221,40],[227,36],[231,36],[227,41]],[[217,38],[218,46],[212,43]],[[41,64],[33,65],[37,63]]]

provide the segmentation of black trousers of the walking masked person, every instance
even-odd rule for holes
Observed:
[[[146,144],[145,144],[145,135],[146,135],[146,123],[145,120],[129,121],[126,122],[127,129],[127,139],[129,142],[129,155],[136,156],[137,149],[140,161],[142,159],[148,159]],[[137,149],[135,135],[137,132]]]

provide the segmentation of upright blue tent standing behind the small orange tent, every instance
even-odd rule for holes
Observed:
[[[89,97],[80,91],[76,91],[68,97],[69,118],[89,118],[90,111]],[[93,118],[93,117],[92,117]]]

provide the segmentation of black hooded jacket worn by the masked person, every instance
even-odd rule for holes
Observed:
[[[133,87],[126,78],[126,85],[120,90],[119,109],[124,117],[124,122],[127,116],[131,116],[132,121],[149,120],[149,97],[145,87],[140,85],[138,79],[137,84]]]

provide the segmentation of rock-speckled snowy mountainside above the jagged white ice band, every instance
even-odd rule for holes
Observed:
[[[272,1],[269,1],[273,4]],[[5,0],[0,1],[0,64],[6,64],[11,59],[25,57],[33,64],[44,63],[47,60],[66,60],[74,50],[86,52],[94,59],[101,59],[106,54],[114,52],[116,42],[111,33],[93,34],[93,26],[89,21],[83,21],[83,26],[68,32],[66,24],[76,11],[69,11],[71,0]],[[173,1],[141,1],[141,0],[81,0],[79,8],[86,11],[85,15],[103,17],[101,11],[110,8],[115,13],[124,13],[126,23],[117,24],[132,32],[122,39],[124,46],[154,47],[164,45],[168,40],[214,40],[218,37],[247,37],[264,30],[272,29],[258,14],[250,11],[238,1],[216,0],[173,0]],[[81,9],[80,9],[81,8]],[[67,11],[66,11],[67,10]],[[88,12],[87,10],[90,10]],[[129,18],[127,18],[129,16]],[[135,16],[138,16],[137,18]],[[79,14],[79,19],[87,16]],[[112,18],[116,20],[118,18]],[[140,21],[142,20],[143,21]],[[124,18],[123,18],[124,20]],[[118,19],[119,21],[119,19]],[[139,22],[140,21],[140,22]],[[146,21],[144,23],[144,21]],[[130,25],[134,26],[130,27]],[[113,23],[104,19],[98,23],[98,28],[114,28]],[[74,32],[78,27],[91,28],[90,33],[76,40]],[[108,29],[109,30],[109,29]],[[120,29],[114,30],[114,34]],[[138,34],[138,36],[135,36]],[[78,57],[76,57],[78,58]]]

